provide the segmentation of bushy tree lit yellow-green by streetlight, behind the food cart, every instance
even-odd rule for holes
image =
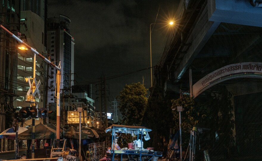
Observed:
[[[119,110],[127,125],[141,124],[147,105],[147,90],[140,82],[126,84],[117,96],[120,101]]]

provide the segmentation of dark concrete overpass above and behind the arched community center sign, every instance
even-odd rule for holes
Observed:
[[[167,44],[160,67],[155,69],[154,85],[189,92],[189,68],[194,85],[221,67],[262,62],[262,7],[233,0],[198,0],[192,4],[188,10],[185,4],[180,4],[179,29]],[[226,86],[234,96],[236,144],[244,145],[247,138],[261,139],[261,117],[254,115],[262,113],[262,103],[258,101],[262,96],[262,80],[237,78],[219,85]],[[215,92],[217,88],[218,85],[212,86],[198,97],[203,98],[205,92]]]

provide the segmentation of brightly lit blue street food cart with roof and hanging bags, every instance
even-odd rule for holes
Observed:
[[[115,155],[118,155],[118,158],[122,161],[123,158],[128,158],[128,161],[142,161],[143,160],[154,160],[154,158],[162,157],[161,151],[154,151],[152,149],[143,147],[143,135],[147,132],[152,131],[147,127],[142,126],[126,126],[126,125],[116,125],[113,124],[112,126],[108,127],[105,132],[107,133],[110,131],[112,133],[112,148],[109,150],[112,154],[110,157],[111,161],[115,160]],[[126,150],[122,148],[121,150],[115,149],[115,138],[116,132],[122,134],[130,134],[130,135],[137,135],[137,141],[134,141],[132,146]]]

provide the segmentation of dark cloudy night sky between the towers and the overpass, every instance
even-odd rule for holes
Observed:
[[[149,89],[150,69],[142,69],[150,67],[150,24],[176,20],[174,14],[178,3],[179,0],[49,0],[49,18],[62,14],[71,19],[70,34],[75,40],[75,84],[92,83],[92,99],[96,100],[98,78],[102,74],[105,78],[113,77],[106,80],[110,102],[125,84],[142,84],[143,76],[144,86]],[[174,26],[156,24],[151,30],[152,66],[155,66]],[[138,70],[142,71],[135,72]],[[134,73],[120,76],[129,72]]]

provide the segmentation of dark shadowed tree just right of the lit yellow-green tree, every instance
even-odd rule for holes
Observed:
[[[142,126],[152,129],[149,133],[151,139],[144,142],[146,147],[155,147],[157,151],[164,151],[163,138],[169,139],[170,127],[173,124],[170,107],[174,97],[177,97],[174,92],[164,92],[160,86],[155,86],[142,122]]]

